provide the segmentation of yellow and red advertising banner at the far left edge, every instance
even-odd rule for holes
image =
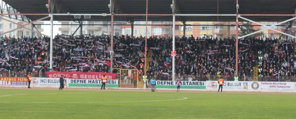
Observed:
[[[0,86],[27,86],[27,77],[0,77]]]

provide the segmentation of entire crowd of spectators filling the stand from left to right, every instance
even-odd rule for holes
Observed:
[[[53,42],[53,69],[49,68],[48,37],[0,38],[0,69],[12,76],[45,71],[110,72],[111,38],[109,35],[71,36],[56,35]],[[113,68],[136,68],[143,74],[145,62],[145,38],[122,35],[113,39]],[[171,80],[172,38],[148,38],[152,60],[147,74],[157,79]],[[176,38],[176,78],[188,81],[206,81],[223,76],[233,80],[235,74],[234,38]],[[252,76],[258,70],[261,81],[286,81],[294,77],[296,70],[295,42],[280,39],[245,38],[239,40],[238,77]],[[258,67],[258,68],[256,68]],[[113,72],[117,72],[113,70]],[[2,73],[3,74],[3,73]],[[213,76],[213,77],[212,77]],[[244,79],[245,80],[245,79]]]

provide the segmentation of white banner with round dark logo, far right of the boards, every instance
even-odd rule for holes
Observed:
[[[294,82],[250,82],[250,90],[294,91]]]

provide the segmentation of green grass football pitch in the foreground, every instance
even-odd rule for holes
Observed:
[[[0,89],[0,119],[295,119],[296,94]]]

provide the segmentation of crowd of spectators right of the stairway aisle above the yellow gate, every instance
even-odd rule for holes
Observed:
[[[150,37],[148,39],[148,46],[159,48],[153,52],[148,73],[165,72],[159,74],[160,79],[171,79],[171,42],[172,38]],[[240,81],[252,80],[255,70],[259,72],[259,81],[295,80],[295,42],[277,38],[266,38],[266,40],[245,38],[239,40],[238,48]],[[194,37],[177,38],[176,51],[176,78],[186,81],[206,81],[216,80],[222,76],[225,80],[234,80],[234,38],[218,39],[211,36],[196,39]],[[259,69],[256,68],[257,65]]]

